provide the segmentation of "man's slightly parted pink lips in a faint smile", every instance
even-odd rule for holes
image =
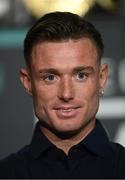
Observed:
[[[76,106],[61,106],[55,108],[55,113],[58,118],[66,119],[77,116],[79,107]]]

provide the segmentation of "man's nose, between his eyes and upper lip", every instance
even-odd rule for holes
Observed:
[[[71,79],[65,78],[60,82],[58,96],[59,99],[64,102],[69,102],[74,99],[74,85]]]

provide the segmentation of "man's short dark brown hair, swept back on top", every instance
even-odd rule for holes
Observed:
[[[83,17],[70,12],[51,12],[42,16],[28,31],[24,40],[26,65],[31,64],[32,49],[41,42],[61,42],[68,39],[89,38],[97,48],[100,60],[104,45],[100,33]]]

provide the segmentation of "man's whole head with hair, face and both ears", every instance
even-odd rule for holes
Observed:
[[[102,53],[100,34],[78,15],[50,13],[30,29],[21,81],[44,131],[86,135],[94,127],[107,79]]]

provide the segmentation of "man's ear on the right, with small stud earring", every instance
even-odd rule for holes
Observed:
[[[107,79],[108,79],[108,65],[101,64],[100,74],[99,74],[99,92],[100,92],[100,94],[103,94],[103,90],[105,88]]]

